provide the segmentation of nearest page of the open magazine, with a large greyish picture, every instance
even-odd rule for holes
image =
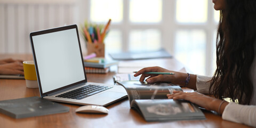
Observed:
[[[133,100],[131,105],[131,108],[140,111],[148,122],[205,119],[202,111],[186,100],[140,99]]]

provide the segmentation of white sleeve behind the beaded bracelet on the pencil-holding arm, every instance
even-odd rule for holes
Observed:
[[[212,77],[196,75],[196,90],[202,94],[209,94]]]

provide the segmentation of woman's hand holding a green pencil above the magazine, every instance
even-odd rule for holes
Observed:
[[[143,74],[146,72],[166,72],[166,73],[175,73],[175,75],[156,75],[156,74]],[[165,68],[161,68],[161,67],[147,67],[147,68],[142,68],[141,70],[139,70],[136,74],[134,74],[134,76],[139,76],[140,74],[140,81],[144,81],[144,79],[146,77],[149,77],[146,79],[146,82],[148,83],[156,83],[156,82],[170,82],[170,83],[174,83],[174,84],[184,84],[185,83],[185,79],[187,77],[186,73],[180,73],[177,71],[171,71],[171,70],[167,70]],[[182,82],[182,83],[181,83]]]

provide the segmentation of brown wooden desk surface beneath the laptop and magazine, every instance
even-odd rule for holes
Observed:
[[[31,55],[0,55],[0,59],[7,57],[33,60]],[[175,59],[158,59],[157,61],[163,62],[163,65],[161,66],[172,70],[179,70],[182,68],[182,65]],[[112,76],[114,74],[114,71],[108,74],[87,74],[87,78],[89,79],[89,82],[113,84]],[[0,79],[0,100],[34,96],[39,97],[39,90],[28,89],[25,80]],[[206,117],[205,120],[146,122],[137,111],[130,109],[127,98],[107,106],[109,109],[108,115],[78,114],[75,113],[75,110],[80,106],[67,103],[61,104],[70,108],[68,113],[21,119],[14,119],[4,114],[0,114],[0,127],[248,127],[246,125],[225,121],[221,116],[214,115],[208,111],[204,111]]]

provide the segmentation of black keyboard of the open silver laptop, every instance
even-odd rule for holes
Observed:
[[[84,87],[80,87],[79,89],[72,90],[60,95],[57,95],[55,97],[61,97],[61,98],[69,98],[69,99],[77,99],[81,100],[86,97],[90,97],[91,95],[97,94],[99,92],[111,89],[112,87],[109,86],[100,86],[100,85],[87,85]]]

